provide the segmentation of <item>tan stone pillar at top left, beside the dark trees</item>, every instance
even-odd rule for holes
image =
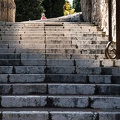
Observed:
[[[15,22],[15,13],[14,0],[0,0],[0,21]]]

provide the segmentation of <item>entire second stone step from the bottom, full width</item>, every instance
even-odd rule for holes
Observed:
[[[107,102],[106,102],[107,101]],[[120,109],[117,96],[1,96],[2,108],[95,108]]]

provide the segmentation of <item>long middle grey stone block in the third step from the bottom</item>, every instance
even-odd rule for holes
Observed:
[[[74,85],[74,84],[49,84],[49,94],[77,94],[92,95],[95,92],[95,85]]]

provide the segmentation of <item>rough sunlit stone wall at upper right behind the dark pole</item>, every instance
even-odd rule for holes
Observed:
[[[116,39],[116,4],[113,3],[113,39]],[[108,0],[81,0],[81,8],[85,22],[92,22],[99,25],[108,35]]]

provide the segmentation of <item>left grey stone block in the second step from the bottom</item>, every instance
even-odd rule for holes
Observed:
[[[2,96],[2,107],[43,107],[46,103],[45,96]]]

